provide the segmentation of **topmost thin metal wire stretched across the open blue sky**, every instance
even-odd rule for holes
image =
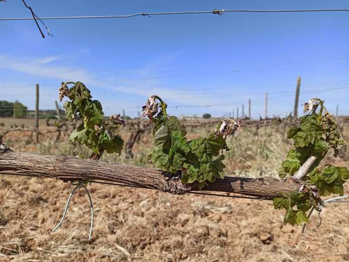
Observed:
[[[129,18],[135,16],[156,16],[156,15],[184,15],[184,14],[218,14],[224,13],[300,13],[300,12],[349,12],[349,9],[309,9],[309,10],[212,10],[212,11],[183,11],[183,12],[163,12],[163,13],[136,13],[131,15],[115,16],[66,16],[66,17],[42,17],[41,20],[60,20],[60,19],[95,19],[95,18]],[[11,20],[33,20],[34,18],[0,18],[0,21]]]

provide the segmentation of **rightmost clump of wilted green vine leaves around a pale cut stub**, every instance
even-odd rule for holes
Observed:
[[[320,106],[319,113],[316,109]],[[279,170],[281,178],[293,176],[304,184],[292,193],[282,193],[274,199],[274,207],[286,209],[284,223],[300,225],[308,223],[306,211],[324,206],[321,196],[343,195],[343,184],[349,179],[349,171],[344,166],[321,165],[330,149],[336,157],[346,142],[337,130],[336,121],[324,106],[324,101],[313,98],[304,104],[306,116],[300,117],[299,126],[291,128],[288,139],[293,139],[294,149],[287,154]],[[305,167],[305,168],[303,168]],[[297,209],[293,209],[296,206]]]

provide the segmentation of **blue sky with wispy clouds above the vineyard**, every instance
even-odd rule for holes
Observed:
[[[27,0],[38,17],[127,15],[213,9],[348,9],[336,1]],[[0,18],[31,17],[20,0],[0,3]],[[223,116],[251,99],[252,117],[285,116],[312,97],[349,115],[349,13],[226,13],[0,21],[0,100],[53,109],[62,81],[81,81],[106,115],[132,117],[156,94],[172,115]],[[40,24],[41,26],[41,24]],[[45,27],[41,26],[44,33]],[[298,112],[301,112],[299,107]]]

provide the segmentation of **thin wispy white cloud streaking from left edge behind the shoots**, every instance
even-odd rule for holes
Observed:
[[[82,50],[77,53],[84,53],[86,50]],[[77,55],[75,56],[77,57]],[[209,97],[203,97],[202,99],[191,100],[190,98],[193,96],[197,96],[197,92],[190,91],[190,89],[181,88],[178,89],[177,86],[172,86],[171,82],[164,82],[161,79],[148,79],[148,80],[130,80],[123,82],[122,84],[115,81],[115,75],[113,74],[110,77],[106,77],[105,74],[101,73],[92,73],[84,68],[80,67],[72,67],[65,66],[65,61],[69,58],[73,58],[72,56],[60,56],[54,55],[50,57],[42,57],[42,58],[23,58],[23,57],[14,57],[10,55],[0,55],[0,68],[9,69],[17,72],[21,72],[24,74],[28,74],[35,77],[45,77],[48,79],[53,79],[54,82],[60,83],[61,81],[66,80],[74,80],[79,79],[91,90],[92,88],[102,89],[102,92],[106,91],[104,97],[99,97],[98,99],[106,104],[110,104],[113,101],[114,97],[108,95],[108,90],[112,92],[121,92],[126,94],[127,99],[123,99],[122,101],[117,101],[115,106],[127,108],[130,106],[136,107],[142,106],[145,100],[151,95],[159,95],[165,101],[170,102],[169,106],[177,106],[180,104],[190,104],[194,106],[200,105],[210,105],[212,101]],[[135,72],[132,75],[132,78],[137,79],[139,77],[149,77],[151,78],[152,70],[151,68],[161,68],[168,64],[168,60],[170,60],[171,56],[166,55],[164,57],[160,57],[159,59],[154,59],[151,62],[148,62],[146,66],[140,68],[140,72]],[[163,62],[161,62],[163,61]],[[54,63],[53,62],[59,62]],[[150,70],[148,70],[150,69]],[[101,68],[101,71],[105,70],[105,68]],[[137,70],[136,70],[137,71]],[[118,75],[120,78],[124,78],[125,76],[120,74]],[[25,79],[25,77],[22,77]],[[119,79],[120,79],[119,78]],[[57,81],[58,80],[58,81]],[[18,84],[18,81],[14,81],[14,85]],[[0,82],[0,86],[4,86],[3,83]],[[8,95],[14,94],[13,91],[7,90]],[[52,91],[50,91],[52,92]],[[32,94],[32,93],[31,93]],[[128,95],[132,95],[128,97]],[[56,99],[55,94],[53,94],[53,100]],[[124,96],[123,96],[124,97]],[[181,98],[178,98],[181,97]],[[185,98],[183,98],[185,97]],[[53,102],[49,102],[51,98],[47,97],[47,103],[53,104]],[[128,101],[127,101],[128,100]],[[131,103],[133,105],[131,105]],[[215,111],[217,108],[212,108],[212,111]],[[105,112],[107,113],[107,112]]]

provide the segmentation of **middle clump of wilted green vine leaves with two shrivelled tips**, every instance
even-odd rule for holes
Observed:
[[[180,170],[182,184],[196,183],[200,189],[207,182],[223,179],[223,150],[229,150],[226,138],[231,132],[239,130],[241,123],[234,119],[222,119],[208,137],[187,141],[186,129],[176,116],[167,115],[166,107],[166,103],[155,95],[149,97],[143,106],[143,117],[148,116],[155,123],[155,148],[149,150],[151,161],[164,171],[177,173]]]

